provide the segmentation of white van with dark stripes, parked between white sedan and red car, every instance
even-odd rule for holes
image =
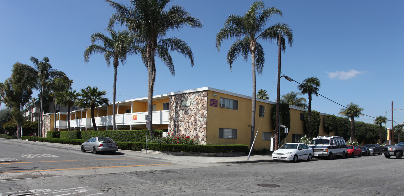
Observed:
[[[345,158],[347,144],[343,137],[339,136],[318,136],[311,140],[309,147],[313,149],[314,157],[327,157],[332,159],[335,156]]]

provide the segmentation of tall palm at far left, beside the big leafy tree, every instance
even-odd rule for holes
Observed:
[[[40,93],[40,107],[39,107],[39,121],[38,121],[38,136],[41,136],[42,133],[42,110],[43,110],[43,99],[44,99],[44,91],[46,89],[46,85],[49,84],[48,80],[53,79],[53,78],[67,78],[66,74],[62,71],[59,71],[57,69],[53,69],[52,66],[50,65],[50,61],[48,57],[42,58],[42,61],[39,61],[35,57],[31,57],[30,60],[32,61],[32,64],[34,64],[35,68],[30,68],[30,72],[32,74],[32,77],[37,78],[37,87],[36,89]]]

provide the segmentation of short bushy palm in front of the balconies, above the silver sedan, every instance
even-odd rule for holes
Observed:
[[[100,105],[109,104],[109,99],[104,97],[106,94],[106,91],[98,91],[97,87],[91,88],[88,86],[85,89],[81,89],[81,98],[77,98],[76,100],[78,107],[91,108],[91,120],[93,121],[93,129],[95,131],[97,130],[97,126],[95,125],[94,109]]]

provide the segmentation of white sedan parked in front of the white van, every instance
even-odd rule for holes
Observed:
[[[299,159],[307,159],[311,161],[313,149],[303,143],[287,143],[283,144],[278,150],[272,153],[272,159],[275,162],[279,160],[290,160],[297,162]]]

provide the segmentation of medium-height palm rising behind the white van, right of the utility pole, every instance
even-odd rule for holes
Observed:
[[[301,91],[301,94],[309,94],[309,105],[307,112],[307,136],[311,137],[311,95],[317,95],[319,88],[321,87],[320,80],[316,77],[309,77],[303,80],[303,83],[297,86],[297,89]]]

